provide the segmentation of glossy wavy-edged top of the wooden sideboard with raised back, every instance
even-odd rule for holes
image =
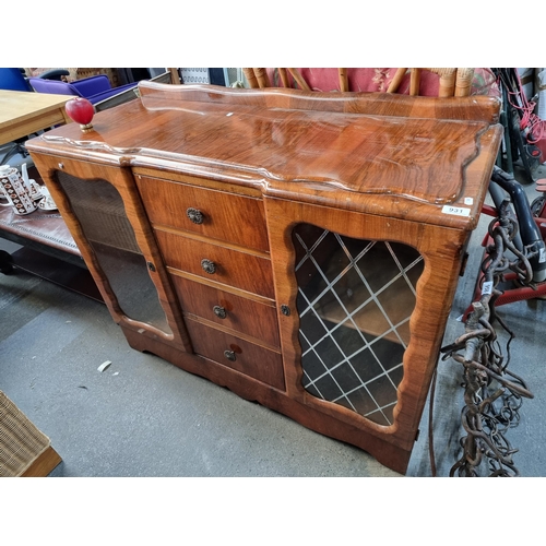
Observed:
[[[355,108],[343,96],[349,94],[317,100],[317,94],[256,91],[141,84],[141,99],[98,112],[93,130],[82,132],[70,123],[28,141],[28,149],[252,185],[281,198],[404,217],[422,214],[424,222],[474,227],[501,128],[492,118],[468,119],[467,112],[484,104],[495,112],[495,104],[482,100],[488,97],[460,108],[456,116],[463,119],[447,119],[435,112],[450,110],[428,108],[429,98],[403,97],[399,104],[413,100],[406,114],[394,104],[400,96],[378,94],[382,109],[377,114],[373,106]],[[376,94],[356,95],[366,95],[373,105]],[[435,100],[449,105],[453,99]],[[454,214],[446,212],[446,205]]]

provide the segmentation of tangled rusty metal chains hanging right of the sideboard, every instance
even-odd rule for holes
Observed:
[[[460,440],[462,456],[451,467],[450,476],[483,475],[484,461],[489,476],[519,476],[512,455],[518,451],[508,441],[508,429],[518,426],[522,399],[532,399],[522,378],[509,371],[510,342],[513,334],[495,312],[495,300],[502,294],[498,284],[512,271],[521,284],[532,286],[530,258],[533,248],[520,252],[512,244],[518,233],[507,199],[499,207],[499,217],[488,228],[492,244],[487,246],[482,263],[482,296],[472,304],[465,333],[442,347],[442,360],[453,358],[463,366],[464,407],[462,426],[466,432]],[[507,251],[514,254],[510,261]],[[507,358],[500,351],[492,323],[497,321],[509,333]]]

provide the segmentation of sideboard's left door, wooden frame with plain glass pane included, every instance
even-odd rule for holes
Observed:
[[[36,156],[35,163],[117,322],[183,343],[130,171],[48,156]]]

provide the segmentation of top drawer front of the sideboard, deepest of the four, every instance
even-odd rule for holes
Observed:
[[[269,251],[262,200],[144,176],[136,181],[152,224]]]

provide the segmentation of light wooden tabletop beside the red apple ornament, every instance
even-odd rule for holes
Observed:
[[[43,129],[69,123],[70,95],[0,90],[0,145]]]

